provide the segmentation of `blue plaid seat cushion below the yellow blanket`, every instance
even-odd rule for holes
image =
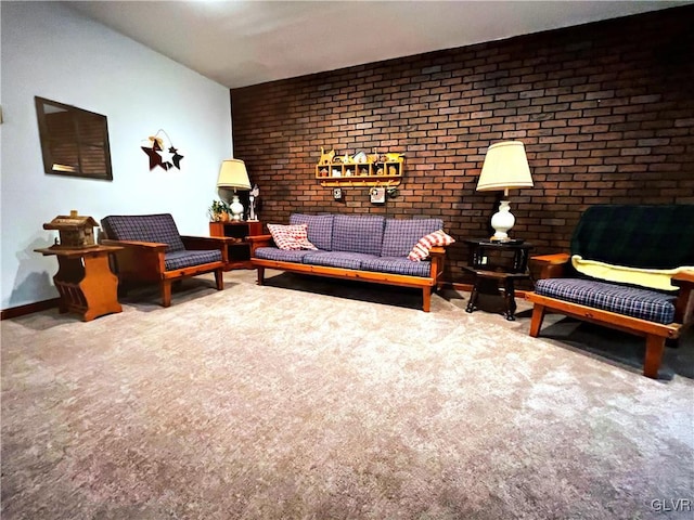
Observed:
[[[535,291],[648,322],[669,324],[674,321],[676,296],[656,290],[588,278],[545,278],[537,282]]]

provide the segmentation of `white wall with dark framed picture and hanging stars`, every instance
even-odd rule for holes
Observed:
[[[219,165],[232,157],[229,90],[61,3],[0,9],[0,307],[57,296],[55,257],[34,249],[56,236],[43,223],[70,209],[97,221],[170,212],[182,234],[207,235]],[[108,118],[113,181],[43,172],[35,95]],[[150,170],[140,146],[159,129],[184,156],[180,170]]]

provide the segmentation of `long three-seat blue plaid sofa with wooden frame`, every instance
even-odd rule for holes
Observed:
[[[266,269],[275,269],[414,287],[422,290],[422,309],[429,312],[432,290],[441,283],[446,245],[452,240],[442,233],[440,219],[304,213],[290,217],[290,226],[304,225],[308,243],[314,248],[281,249],[272,234],[248,237],[258,285],[264,284]],[[438,239],[440,237],[448,238]],[[422,245],[428,255],[415,258],[413,248],[421,251]]]

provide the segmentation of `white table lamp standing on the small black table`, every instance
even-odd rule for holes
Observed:
[[[525,146],[520,141],[504,141],[492,144],[487,151],[485,164],[477,181],[478,192],[503,191],[503,200],[499,211],[491,218],[494,234],[492,242],[509,242],[509,230],[516,219],[511,213],[509,190],[532,187],[530,167],[525,155]]]

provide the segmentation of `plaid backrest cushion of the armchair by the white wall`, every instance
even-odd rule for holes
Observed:
[[[106,237],[113,240],[167,244],[166,252],[185,249],[170,213],[113,214],[101,219],[101,226]]]

